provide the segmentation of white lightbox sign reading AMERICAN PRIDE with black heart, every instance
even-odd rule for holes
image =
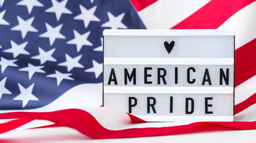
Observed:
[[[234,31],[104,30],[103,106],[143,120],[233,121]]]

